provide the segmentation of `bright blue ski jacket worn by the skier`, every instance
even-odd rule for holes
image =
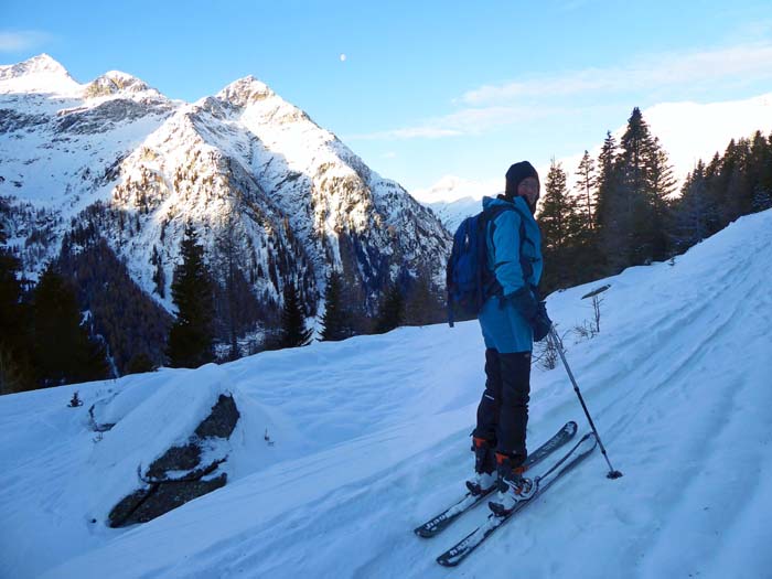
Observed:
[[[544,267],[542,234],[523,197],[515,197],[512,202],[483,197],[483,208],[501,204],[513,205],[515,211],[503,211],[489,223],[486,239],[487,265],[501,283],[502,294],[490,297],[478,319],[485,347],[495,349],[501,354],[530,352],[534,332],[510,298],[524,287],[530,290],[538,286]],[[521,224],[524,239],[521,239]],[[524,268],[523,262],[530,267]]]

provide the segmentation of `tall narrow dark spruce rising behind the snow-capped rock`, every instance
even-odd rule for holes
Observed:
[[[204,248],[190,223],[180,253],[182,262],[174,269],[172,281],[178,314],[169,333],[167,356],[171,367],[196,368],[214,360],[213,282],[204,262]]]

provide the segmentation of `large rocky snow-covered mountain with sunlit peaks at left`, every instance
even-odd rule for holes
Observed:
[[[88,225],[170,310],[186,222],[210,260],[236,244],[258,299],[294,281],[312,311],[333,267],[372,304],[423,266],[439,280],[448,251],[430,211],[254,77],[187,104],[116,71],[78,84],[47,55],[1,66],[0,195],[28,276]]]

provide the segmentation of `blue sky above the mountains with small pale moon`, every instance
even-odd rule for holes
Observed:
[[[772,92],[772,6],[2,0],[0,63],[41,52],[189,101],[255,75],[414,190],[576,154],[634,106]]]

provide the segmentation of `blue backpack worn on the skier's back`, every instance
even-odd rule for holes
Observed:
[[[453,249],[448,259],[446,285],[448,288],[448,324],[455,319],[476,318],[485,300],[501,293],[501,283],[487,267],[487,224],[504,211],[517,211],[512,205],[494,205],[467,217],[453,235]],[[525,225],[521,219],[521,248],[525,239]],[[493,237],[493,226],[491,227]]]

